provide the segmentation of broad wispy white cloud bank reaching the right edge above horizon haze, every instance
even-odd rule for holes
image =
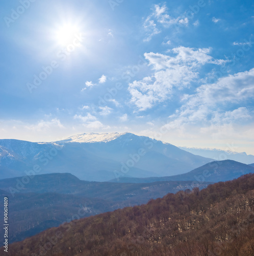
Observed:
[[[216,83],[203,84],[195,94],[185,96],[185,103],[169,117],[171,120],[165,127],[183,129],[186,125],[244,125],[243,122],[248,123],[253,119],[253,113],[246,106],[228,109],[228,103],[243,105],[253,97],[254,69],[220,78]]]

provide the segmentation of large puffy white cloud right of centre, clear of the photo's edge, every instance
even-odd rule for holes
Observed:
[[[199,77],[198,69],[206,63],[220,64],[223,60],[209,55],[211,49],[177,47],[171,50],[174,56],[160,53],[145,53],[154,74],[129,84],[131,102],[140,111],[150,109],[158,102],[171,97],[173,88],[183,89]]]

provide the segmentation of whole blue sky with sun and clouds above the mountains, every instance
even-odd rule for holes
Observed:
[[[254,154],[253,7],[5,1],[0,138],[128,131]]]

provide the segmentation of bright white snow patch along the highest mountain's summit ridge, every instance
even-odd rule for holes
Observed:
[[[126,133],[84,133],[71,136],[61,142],[80,142],[80,143],[94,143],[94,142],[109,142]]]

